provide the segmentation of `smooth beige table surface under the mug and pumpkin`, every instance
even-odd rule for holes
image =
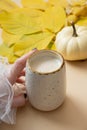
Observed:
[[[87,130],[87,61],[66,62],[67,92],[64,104],[41,112],[28,103],[18,109],[16,125],[0,130]]]

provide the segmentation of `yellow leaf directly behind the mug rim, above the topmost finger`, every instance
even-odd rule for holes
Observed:
[[[55,35],[51,32],[39,32],[33,35],[24,35],[21,41],[14,45],[14,53],[21,56],[33,48],[45,49]]]

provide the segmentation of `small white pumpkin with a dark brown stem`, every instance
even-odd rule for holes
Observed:
[[[87,59],[87,27],[64,27],[56,36],[55,46],[66,60]]]

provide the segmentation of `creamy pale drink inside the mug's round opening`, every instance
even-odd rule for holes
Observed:
[[[52,73],[61,67],[62,62],[63,60],[54,54],[47,55],[43,53],[40,57],[34,57],[30,63],[30,66],[38,73]]]

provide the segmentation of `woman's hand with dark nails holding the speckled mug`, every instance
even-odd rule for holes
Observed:
[[[9,82],[13,85],[15,91],[12,107],[24,106],[26,103],[27,94],[26,94],[25,79],[24,79],[25,65],[26,65],[26,60],[35,51],[37,51],[37,49],[33,49],[29,53],[20,57],[14,64],[11,65],[7,78]],[[14,85],[15,83],[18,83],[18,87]]]

